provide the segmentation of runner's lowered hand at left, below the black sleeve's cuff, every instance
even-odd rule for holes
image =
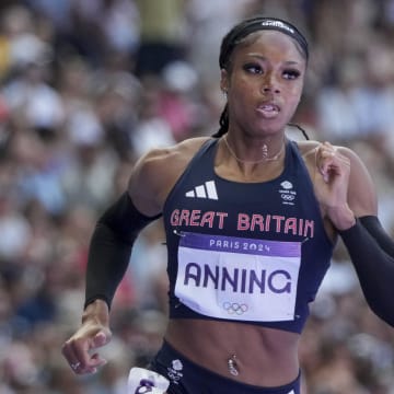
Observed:
[[[103,301],[88,305],[82,317],[82,326],[63,344],[61,352],[77,374],[94,373],[104,366],[95,349],[106,345],[112,337],[108,328],[108,311]]]

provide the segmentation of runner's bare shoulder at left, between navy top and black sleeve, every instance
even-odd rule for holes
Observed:
[[[208,139],[190,138],[170,148],[153,149],[137,161],[128,190],[142,213],[153,216],[161,212],[167,194]]]

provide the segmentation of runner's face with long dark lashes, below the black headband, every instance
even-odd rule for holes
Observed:
[[[230,128],[260,136],[283,130],[300,102],[305,68],[291,37],[276,31],[251,34],[221,74]]]

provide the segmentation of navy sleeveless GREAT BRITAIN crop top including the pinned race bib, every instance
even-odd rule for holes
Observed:
[[[277,178],[241,183],[215,173],[217,142],[202,144],[164,205],[170,317],[300,333],[333,244],[298,147],[287,142]]]

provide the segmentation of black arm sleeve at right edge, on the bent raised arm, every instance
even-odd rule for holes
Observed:
[[[374,216],[339,231],[371,310],[394,326],[394,241]]]

